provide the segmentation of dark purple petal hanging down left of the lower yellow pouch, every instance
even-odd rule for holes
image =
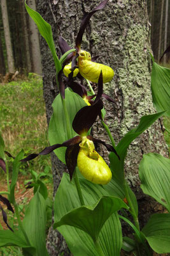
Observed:
[[[69,171],[70,180],[73,178],[74,169],[76,168],[77,156],[80,150],[79,143],[69,146],[66,149],[66,164]]]

